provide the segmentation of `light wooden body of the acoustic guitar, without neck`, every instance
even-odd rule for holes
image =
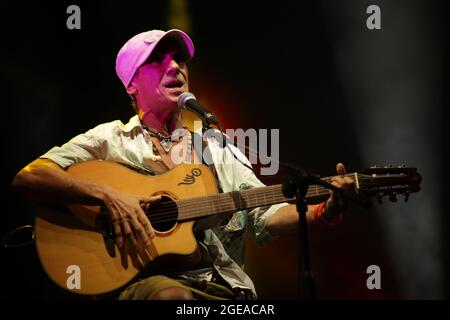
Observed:
[[[147,176],[117,163],[89,161],[73,165],[67,172],[136,196],[165,195],[177,200],[218,193],[214,176],[201,164],[183,164],[163,175]],[[56,284],[78,294],[102,294],[125,286],[149,264],[156,265],[158,257],[196,256],[194,221],[156,229],[149,250],[135,251],[127,244],[119,251],[108,217],[100,206],[40,208],[36,247],[44,270]]]

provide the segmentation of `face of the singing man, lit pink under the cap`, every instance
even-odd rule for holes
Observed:
[[[136,72],[131,84],[137,90],[139,108],[152,113],[178,110],[178,96],[189,91],[188,69],[173,40],[162,40],[147,62]]]

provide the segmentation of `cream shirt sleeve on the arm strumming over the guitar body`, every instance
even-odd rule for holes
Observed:
[[[50,159],[63,169],[79,162],[105,159],[107,150],[105,131],[107,131],[107,125],[99,125],[72,138],[60,147],[53,147],[39,158]]]

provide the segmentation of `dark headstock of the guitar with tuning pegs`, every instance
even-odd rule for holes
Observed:
[[[381,203],[388,196],[392,202],[398,195],[408,201],[409,195],[420,190],[422,177],[417,168],[406,166],[372,166],[357,174],[357,189],[368,196],[373,196]]]

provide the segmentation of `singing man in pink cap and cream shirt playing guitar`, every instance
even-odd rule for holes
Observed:
[[[17,174],[14,187],[42,203],[103,207],[119,250],[129,247],[155,251],[158,231],[146,212],[151,213],[152,206],[161,203],[161,194],[124,192],[70,174],[68,169],[92,160],[107,160],[149,175],[160,175],[176,170],[173,153],[180,152],[180,148],[188,148],[184,150],[183,163],[192,163],[198,155],[190,147],[192,135],[184,127],[177,102],[183,92],[189,91],[187,63],[193,54],[191,39],[180,30],[152,30],[132,37],[118,53],[116,72],[132,98],[137,115],[125,125],[120,121],[101,124],[61,147],[52,148]],[[233,161],[237,154],[250,165],[237,148],[221,148],[214,138],[207,138],[206,145],[217,160],[215,177],[223,192],[264,187],[247,166]],[[338,175],[331,182],[339,188],[352,188],[354,180],[345,175],[344,165],[338,163],[336,169]],[[191,175],[193,179],[194,176]],[[335,224],[342,218],[344,207],[343,201],[332,192],[326,202],[308,206],[307,221]],[[296,207],[287,203],[236,212],[224,226],[196,234],[202,257],[194,266],[160,269],[135,281],[120,298],[255,298],[252,280],[241,268],[244,232],[249,231],[257,241],[265,242],[294,232],[297,226]]]

